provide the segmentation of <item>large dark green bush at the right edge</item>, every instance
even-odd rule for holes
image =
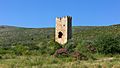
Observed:
[[[118,54],[120,53],[120,35],[101,35],[94,41],[94,46],[98,53]]]

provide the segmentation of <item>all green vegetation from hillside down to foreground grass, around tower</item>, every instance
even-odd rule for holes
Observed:
[[[68,57],[54,57],[59,48]],[[76,60],[78,51],[88,60]],[[120,67],[120,26],[76,26],[64,46],[54,41],[54,28],[0,27],[0,67],[102,68]]]

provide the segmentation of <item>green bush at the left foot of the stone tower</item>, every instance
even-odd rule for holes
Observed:
[[[53,55],[57,49],[62,48],[62,46],[54,40],[40,42],[37,46],[39,47],[39,51],[41,54],[49,55]]]

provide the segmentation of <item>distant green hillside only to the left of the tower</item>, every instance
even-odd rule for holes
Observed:
[[[0,45],[33,44],[45,40],[47,36],[53,37],[54,29],[11,28],[0,29]],[[51,37],[50,36],[50,37]]]

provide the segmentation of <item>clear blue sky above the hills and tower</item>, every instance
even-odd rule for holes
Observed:
[[[0,0],[0,25],[55,27],[66,15],[73,26],[120,24],[120,0]]]

